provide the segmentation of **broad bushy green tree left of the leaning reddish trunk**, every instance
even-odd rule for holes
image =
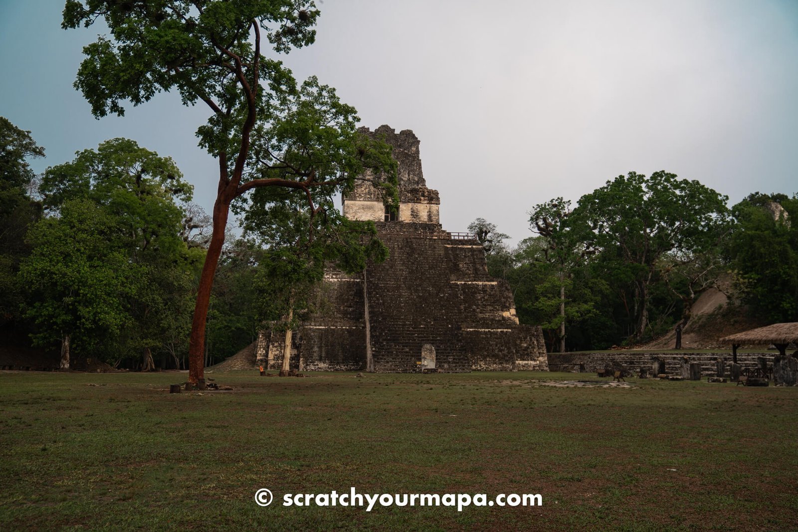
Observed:
[[[190,200],[192,186],[168,157],[113,139],[49,167],[39,195],[54,215],[30,232],[22,265],[39,343],[61,341],[68,366],[70,348],[93,353],[113,339],[117,357],[140,353],[152,368],[152,349],[188,318],[185,294],[203,255],[181,238],[176,202]]]

